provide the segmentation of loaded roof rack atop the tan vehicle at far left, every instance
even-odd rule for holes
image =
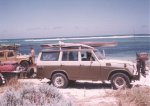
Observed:
[[[17,50],[20,44],[0,44],[0,50]]]

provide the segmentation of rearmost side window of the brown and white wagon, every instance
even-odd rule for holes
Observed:
[[[58,61],[59,52],[43,52],[41,55],[42,61]]]

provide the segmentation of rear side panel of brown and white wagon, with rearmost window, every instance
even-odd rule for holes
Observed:
[[[38,57],[37,76],[41,78],[50,78],[55,70],[60,69],[59,61],[60,51],[44,51]]]

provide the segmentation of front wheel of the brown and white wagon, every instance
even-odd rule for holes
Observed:
[[[130,79],[126,74],[116,73],[111,77],[111,84],[113,89],[125,89],[130,88]]]

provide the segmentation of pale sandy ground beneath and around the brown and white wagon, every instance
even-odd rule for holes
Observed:
[[[20,79],[20,82],[36,84],[47,83],[48,79]],[[140,81],[132,83],[135,86],[150,87],[150,73],[145,78],[141,76]],[[113,96],[117,90],[113,90],[109,82],[101,81],[77,81],[66,89],[59,89],[64,97],[72,102],[74,106],[120,106],[120,100]],[[124,103],[123,106],[126,104]],[[133,105],[134,106],[134,105]]]

